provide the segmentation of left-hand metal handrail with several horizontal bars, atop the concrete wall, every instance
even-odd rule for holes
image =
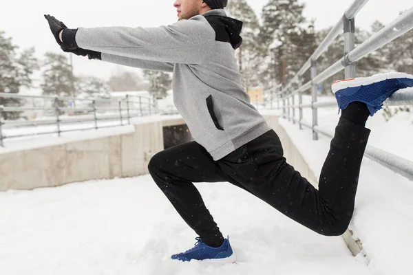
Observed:
[[[147,96],[125,96],[125,98],[76,98],[70,96],[32,96],[21,94],[8,94],[0,93],[0,98],[14,98],[16,100],[33,100],[42,99],[43,107],[21,107],[21,106],[3,106],[0,105],[0,146],[4,146],[4,140],[14,137],[24,137],[30,135],[43,135],[45,133],[57,133],[59,136],[63,132],[67,131],[82,131],[85,128],[81,128],[81,125],[76,125],[74,129],[62,128],[65,124],[94,122],[94,127],[91,129],[99,129],[106,126],[99,125],[99,121],[119,121],[120,125],[124,125],[124,120],[127,120],[127,124],[130,124],[130,118],[152,115],[158,113],[158,108],[155,98],[149,98]],[[138,99],[138,100],[136,100]],[[49,102],[46,104],[46,101]],[[72,107],[62,107],[62,102],[72,102]],[[81,106],[76,102],[81,102]],[[107,106],[98,106],[98,102],[106,104]],[[137,106],[138,105],[138,106]],[[24,112],[24,111],[47,111],[52,115],[49,119],[41,120],[4,120],[4,115],[10,112]],[[62,117],[63,113],[85,113],[83,115],[76,115],[70,118]],[[62,125],[63,124],[63,125]],[[50,126],[56,125],[55,131],[47,132],[36,131],[34,133],[25,134],[9,134],[6,132],[11,129],[20,128],[23,126]],[[116,125],[112,125],[116,126]],[[72,128],[72,127],[71,127]],[[5,132],[6,131],[6,132]]]

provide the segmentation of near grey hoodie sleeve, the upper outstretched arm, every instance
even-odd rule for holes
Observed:
[[[159,28],[78,28],[78,47],[147,61],[200,63],[211,50],[215,32],[198,15]]]

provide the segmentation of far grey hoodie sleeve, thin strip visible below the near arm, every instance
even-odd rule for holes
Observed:
[[[125,56],[116,56],[114,54],[102,53],[102,61],[116,63],[119,65],[125,65],[129,67],[136,67],[140,69],[150,69],[160,72],[173,72],[173,63],[159,62],[159,61],[147,61],[144,59],[130,58]]]

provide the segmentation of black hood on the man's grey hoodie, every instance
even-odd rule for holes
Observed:
[[[209,10],[204,12],[202,16],[224,27],[226,34],[229,36],[229,43],[231,43],[234,50],[241,46],[242,37],[240,34],[244,24],[242,21],[228,17],[223,9]]]

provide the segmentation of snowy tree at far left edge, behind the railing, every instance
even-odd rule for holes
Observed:
[[[0,93],[17,94],[21,87],[32,87],[32,74],[39,69],[34,57],[34,47],[17,53],[19,47],[12,39],[0,31]],[[0,105],[21,106],[22,102],[14,98],[0,98]],[[19,118],[20,112],[4,112],[3,118]]]

